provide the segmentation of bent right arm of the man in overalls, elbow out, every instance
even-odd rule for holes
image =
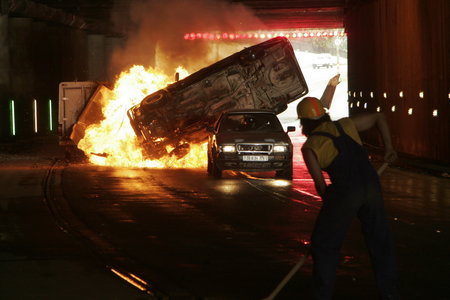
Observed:
[[[381,133],[385,147],[384,160],[388,163],[392,163],[397,159],[397,153],[395,152],[394,147],[392,147],[391,133],[384,113],[364,113],[350,118],[355,124],[356,130],[359,132],[365,131],[376,125]]]

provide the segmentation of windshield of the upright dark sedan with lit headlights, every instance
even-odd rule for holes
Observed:
[[[270,113],[228,114],[222,118],[219,131],[283,131],[283,126]]]

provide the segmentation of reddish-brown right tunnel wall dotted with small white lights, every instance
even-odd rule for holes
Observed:
[[[354,1],[345,17],[350,115],[385,112],[399,152],[447,164],[449,11],[448,0]]]

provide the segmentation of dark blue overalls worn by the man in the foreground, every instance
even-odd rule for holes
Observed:
[[[340,248],[355,216],[358,216],[374,268],[381,299],[394,299],[398,292],[394,245],[389,232],[378,174],[365,149],[333,122],[339,136],[312,132],[333,140],[339,154],[324,169],[330,177],[323,205],[311,237],[315,299],[331,299]]]

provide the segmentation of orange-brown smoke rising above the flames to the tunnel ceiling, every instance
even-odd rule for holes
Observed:
[[[250,9],[224,0],[135,0],[129,19],[125,45],[113,54],[114,70],[138,64],[172,74],[181,65],[193,72],[235,52],[236,47],[223,45],[225,53],[218,53],[217,42],[185,40],[186,33],[264,29]]]

